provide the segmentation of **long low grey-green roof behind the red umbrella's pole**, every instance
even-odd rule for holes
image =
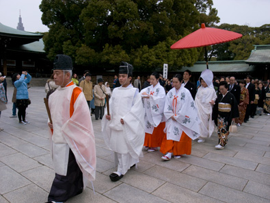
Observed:
[[[209,70],[213,73],[223,73],[223,72],[252,72],[255,70],[255,66],[245,63],[245,60],[228,60],[228,61],[209,61]],[[178,69],[179,72],[189,70],[193,73],[202,72],[206,69],[206,62],[195,62],[193,67],[182,67]]]

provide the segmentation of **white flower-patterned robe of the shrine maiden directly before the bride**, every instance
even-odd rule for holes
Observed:
[[[200,119],[191,93],[183,85],[178,91],[172,88],[166,96],[164,115],[166,117],[167,140],[180,141],[184,131],[191,139],[200,136]],[[176,121],[172,120],[172,116]]]

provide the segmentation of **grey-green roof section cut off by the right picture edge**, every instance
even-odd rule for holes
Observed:
[[[270,45],[254,45],[247,64],[270,64]]]

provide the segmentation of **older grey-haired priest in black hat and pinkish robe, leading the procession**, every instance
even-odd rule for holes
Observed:
[[[84,180],[96,176],[94,130],[85,96],[71,80],[72,60],[59,54],[53,62],[55,84],[60,87],[49,97],[48,122],[55,179],[49,202],[66,202],[83,192]]]

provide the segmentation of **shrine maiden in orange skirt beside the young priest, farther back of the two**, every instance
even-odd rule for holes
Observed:
[[[165,117],[163,109],[165,104],[165,90],[159,84],[159,73],[150,75],[150,84],[141,90],[141,98],[144,106],[144,128],[146,136],[144,139],[145,150],[157,151],[165,136]]]

